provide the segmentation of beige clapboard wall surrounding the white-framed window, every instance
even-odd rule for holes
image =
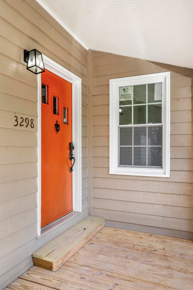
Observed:
[[[104,217],[110,227],[193,239],[193,69],[91,50],[89,56],[88,114],[92,111],[93,122],[88,136],[93,150],[89,211]],[[170,178],[109,174],[109,79],[166,71],[171,72]]]

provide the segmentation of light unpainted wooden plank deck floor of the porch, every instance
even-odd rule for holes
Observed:
[[[104,227],[57,272],[33,266],[13,290],[192,290],[193,242]]]

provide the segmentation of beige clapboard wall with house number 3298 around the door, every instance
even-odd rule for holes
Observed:
[[[32,265],[32,253],[87,211],[87,50],[35,0],[0,0],[0,289]],[[37,77],[24,49],[36,48],[82,79],[82,213],[37,236]],[[14,127],[14,115],[34,128]]]

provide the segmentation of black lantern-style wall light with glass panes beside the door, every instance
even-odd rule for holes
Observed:
[[[40,51],[33,50],[24,50],[24,61],[27,63],[27,69],[36,75],[41,72],[45,72],[43,58]]]

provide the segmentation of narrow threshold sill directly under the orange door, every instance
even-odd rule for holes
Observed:
[[[45,227],[41,228],[40,236],[37,236],[36,239],[37,240],[40,239],[41,237],[45,236],[52,230],[57,229],[57,227],[60,227],[62,224],[65,224],[68,221],[70,221],[72,218],[75,218],[79,214],[81,214],[81,212],[72,211],[69,214],[66,214],[64,217],[59,218],[58,220],[53,221],[51,224],[46,225]]]

